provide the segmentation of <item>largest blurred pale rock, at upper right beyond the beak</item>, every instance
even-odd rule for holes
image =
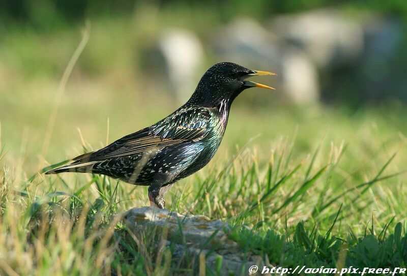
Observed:
[[[319,68],[348,63],[363,52],[361,25],[338,11],[278,16],[268,26],[278,37],[303,49]]]

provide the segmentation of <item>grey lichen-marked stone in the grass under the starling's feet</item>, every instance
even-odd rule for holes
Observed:
[[[252,265],[263,265],[261,257],[244,253],[239,244],[228,238],[230,227],[220,220],[205,216],[183,215],[156,207],[137,207],[123,213],[125,224],[134,233],[167,231],[167,245],[173,248],[172,258],[185,258],[194,262],[198,271],[199,258],[205,255],[207,268],[216,271],[217,260],[222,259],[220,275],[249,274]],[[202,254],[203,253],[203,254]]]

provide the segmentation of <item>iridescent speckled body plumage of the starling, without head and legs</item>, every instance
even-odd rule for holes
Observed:
[[[157,124],[57,170],[105,174],[139,185],[150,185],[154,173],[164,172],[177,174],[172,180],[177,181],[212,159],[225,130],[224,117],[216,108],[183,106]]]

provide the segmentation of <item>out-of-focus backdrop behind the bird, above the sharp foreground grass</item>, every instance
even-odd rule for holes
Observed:
[[[34,172],[154,124],[229,61],[278,76],[236,100],[223,150],[258,134],[380,147],[407,135],[406,34],[403,0],[0,0],[0,141]]]

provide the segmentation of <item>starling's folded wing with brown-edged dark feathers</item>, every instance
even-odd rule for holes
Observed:
[[[101,161],[188,141],[198,141],[209,133],[211,116],[213,112],[203,107],[180,109],[149,128],[129,134],[104,148],[73,160]]]

